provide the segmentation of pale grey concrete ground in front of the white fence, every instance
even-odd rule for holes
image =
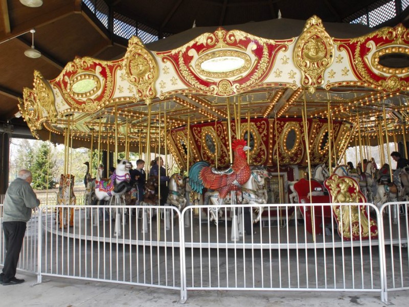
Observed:
[[[17,272],[26,282],[16,286],[0,286],[1,306],[178,306],[180,292],[44,276],[33,286],[37,277]],[[409,291],[389,293],[389,303],[407,306]],[[266,292],[266,291],[189,291],[186,306],[385,306],[378,293],[359,292]]]

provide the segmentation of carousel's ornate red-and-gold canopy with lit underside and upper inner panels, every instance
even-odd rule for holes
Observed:
[[[98,135],[135,150],[162,139],[179,165],[206,152],[217,160],[226,147],[220,140],[245,131],[257,144],[255,164],[306,163],[306,151],[319,163],[327,148],[336,159],[361,135],[367,144],[403,137],[408,42],[403,25],[336,38],[317,16],[298,36],[280,39],[218,28],[154,51],[133,36],[118,60],[76,58],[52,80],[36,71],[19,108],[37,137],[61,142],[70,134],[86,144]],[[207,136],[218,152],[205,145]]]

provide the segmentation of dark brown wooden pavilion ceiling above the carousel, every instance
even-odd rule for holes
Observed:
[[[380,17],[371,21],[371,27],[396,25],[407,22],[407,3],[402,1],[401,9],[391,10],[390,1],[377,0],[48,0],[39,8],[29,8],[19,0],[2,0],[0,14],[0,121],[15,119],[18,115],[17,98],[22,97],[22,89],[31,87],[33,71],[40,71],[46,79],[55,78],[65,64],[76,56],[90,56],[104,60],[121,58],[126,52],[127,39],[136,34],[144,43],[158,37],[167,37],[192,28],[184,33],[185,42],[198,36],[199,27],[213,27],[205,32],[213,32],[218,26],[231,29],[231,25],[246,24],[243,31],[266,38],[287,38],[297,36],[303,21],[312,15],[320,16],[325,23],[362,23],[365,12],[383,8]],[[265,28],[257,32],[254,21],[264,21],[278,17],[279,10],[284,18],[299,19],[298,25],[280,29],[283,35],[268,35],[274,29]],[[108,25],[109,12],[113,24]],[[368,18],[369,20],[369,18]],[[294,21],[295,23],[296,21]],[[114,25],[115,24],[115,25]],[[346,27],[348,24],[344,24]],[[125,26],[121,31],[122,26]],[[42,56],[30,59],[24,51],[31,47],[31,29],[35,29],[34,46]],[[330,29],[330,25],[327,25]],[[286,33],[285,31],[292,31]],[[285,34],[284,34],[285,33]],[[342,34],[329,30],[334,37]],[[359,35],[361,32],[357,32]],[[352,33],[351,33],[352,34]],[[352,37],[350,35],[348,37]],[[171,40],[173,41],[173,40]],[[162,43],[162,41],[161,41]],[[163,43],[166,45],[165,41]],[[183,43],[162,50],[170,50]],[[156,47],[155,47],[156,48]],[[152,48],[151,50],[156,50]],[[157,49],[159,50],[159,49]]]

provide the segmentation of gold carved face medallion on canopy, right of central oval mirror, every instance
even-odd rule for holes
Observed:
[[[322,20],[312,16],[294,49],[294,63],[301,70],[301,84],[314,93],[324,84],[324,73],[334,59],[334,43],[325,31]]]

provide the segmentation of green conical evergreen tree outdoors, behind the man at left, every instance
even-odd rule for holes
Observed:
[[[34,152],[34,158],[32,160],[33,162],[31,165],[34,189],[44,190],[47,188],[54,187],[55,182],[53,180],[52,173],[56,165],[56,160],[53,157],[54,155],[50,155],[49,143],[41,142],[41,144]]]

